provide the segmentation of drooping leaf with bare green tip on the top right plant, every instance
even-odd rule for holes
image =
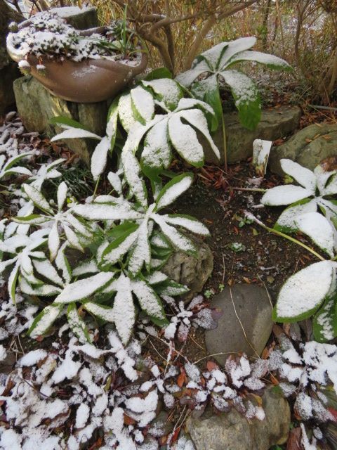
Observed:
[[[247,129],[256,129],[261,118],[261,100],[256,84],[237,70],[224,70],[220,75],[230,86],[240,122]]]

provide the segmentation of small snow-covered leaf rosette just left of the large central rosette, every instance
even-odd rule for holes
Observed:
[[[39,225],[46,224],[51,226],[51,230],[48,234],[48,248],[51,259],[54,259],[60,248],[60,228],[65,233],[67,240],[72,247],[77,248],[83,252],[83,241],[92,237],[91,224],[83,220],[77,219],[72,214],[72,208],[62,211],[67,200],[67,184],[62,181],[58,186],[57,191],[57,211],[48,203],[44,195],[35,188],[32,184],[23,184],[22,189],[34,203],[34,205],[41,210],[44,214],[29,214],[25,217],[13,217],[13,221],[18,224]]]

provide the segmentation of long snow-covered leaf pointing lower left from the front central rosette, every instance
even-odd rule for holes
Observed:
[[[65,286],[62,293],[55,298],[55,303],[70,303],[84,300],[102,289],[112,278],[114,278],[113,272],[100,272],[97,275],[84,278],[84,280],[75,281]]]

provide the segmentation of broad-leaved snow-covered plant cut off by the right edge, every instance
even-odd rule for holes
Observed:
[[[275,321],[292,322],[315,315],[315,339],[326,342],[337,335],[337,264],[333,260],[337,250],[337,207],[332,197],[337,195],[337,170],[324,172],[317,166],[312,172],[286,159],[281,160],[281,166],[300,186],[276,186],[263,195],[263,205],[289,205],[274,229],[304,233],[332,260],[316,262],[291,276],[279,291],[273,316]]]

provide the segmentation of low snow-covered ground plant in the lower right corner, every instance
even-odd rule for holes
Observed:
[[[285,397],[296,399],[294,409],[302,420],[333,420],[329,390],[337,394],[337,347],[315,341],[296,342],[279,336],[280,345],[269,359],[277,371]]]

